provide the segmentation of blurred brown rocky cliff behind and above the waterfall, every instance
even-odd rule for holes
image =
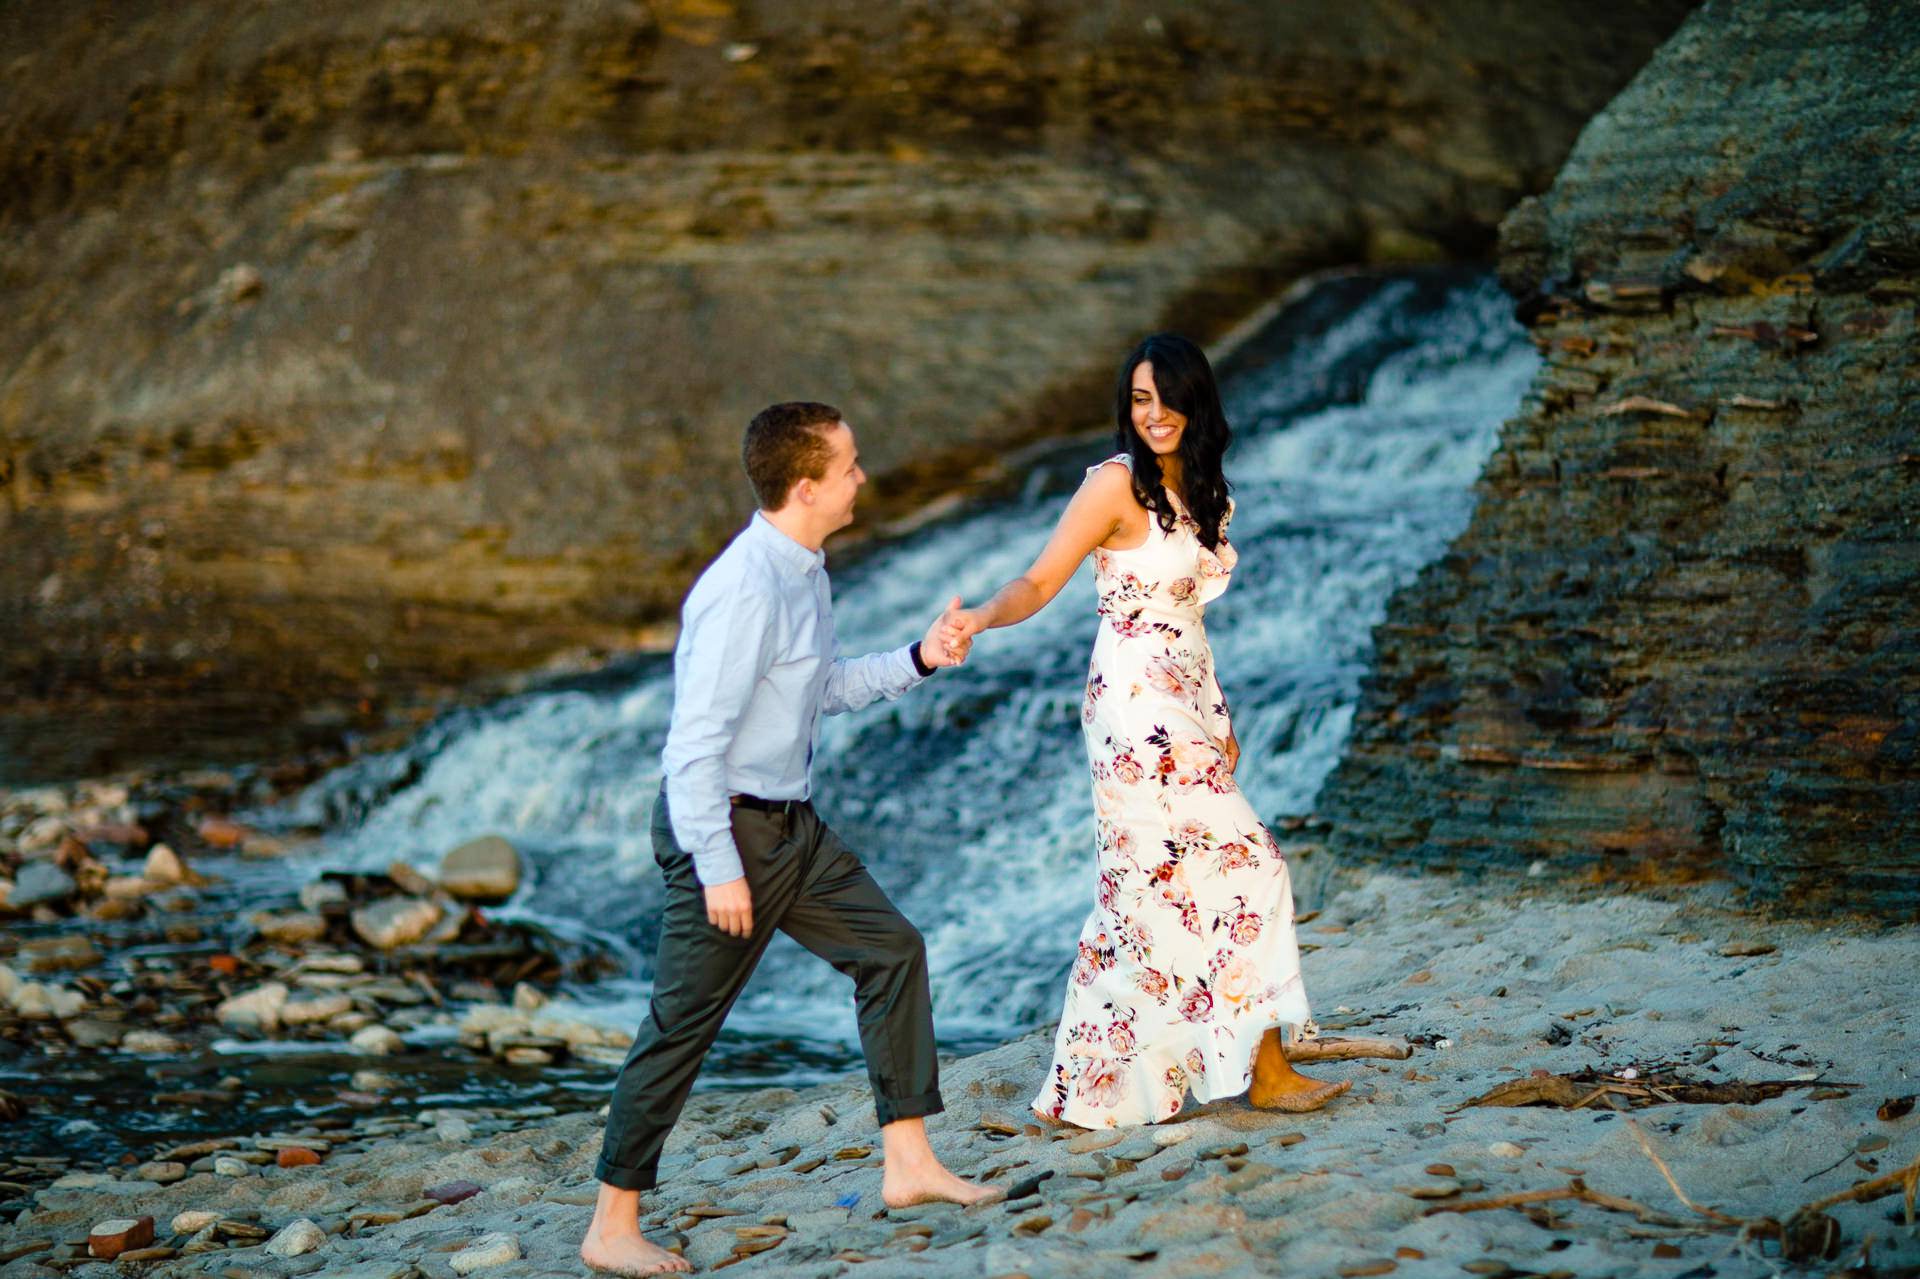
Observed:
[[[1686,8],[10,6],[0,774],[643,641],[758,405],[900,511],[1142,330],[1486,252]]]

